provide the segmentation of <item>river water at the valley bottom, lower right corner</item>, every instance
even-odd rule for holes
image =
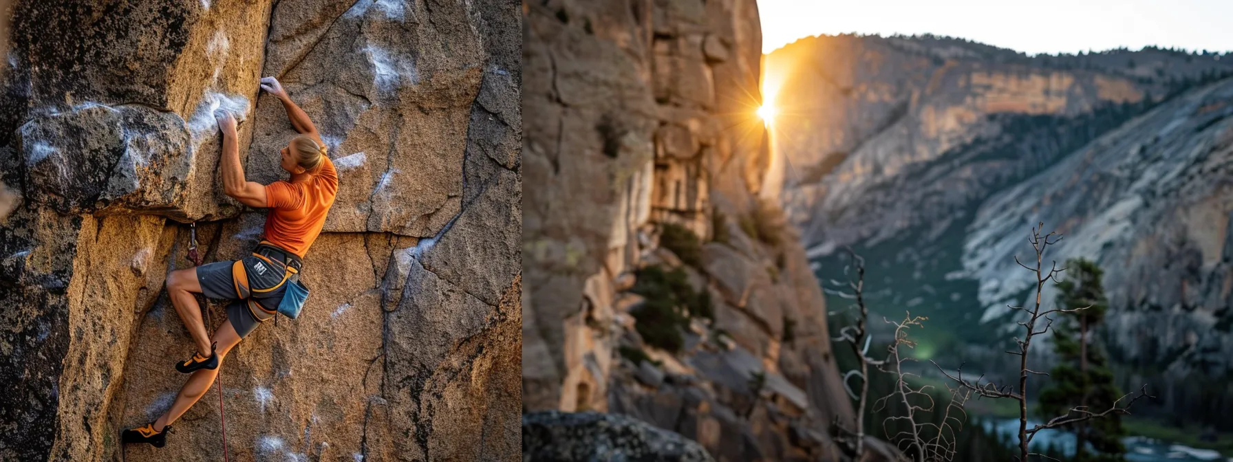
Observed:
[[[1028,421],[1027,425],[1039,423]],[[985,431],[999,432],[1017,441],[1018,419],[985,420]],[[1194,447],[1175,445],[1169,441],[1152,440],[1142,436],[1131,436],[1122,440],[1126,444],[1126,460],[1129,462],[1206,462],[1221,461],[1233,462],[1233,457],[1224,458],[1219,452],[1212,450],[1196,450]],[[1057,430],[1043,430],[1032,439],[1032,450],[1043,451],[1049,445],[1055,445],[1067,455],[1075,452],[1075,437],[1073,434]]]

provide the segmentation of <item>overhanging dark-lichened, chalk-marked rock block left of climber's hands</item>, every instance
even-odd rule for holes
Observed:
[[[197,153],[218,150],[216,108],[243,120],[252,107],[269,9],[270,1],[242,0],[18,1],[5,123],[38,126],[20,131],[26,153],[111,149],[97,163],[63,165],[65,177],[95,180],[74,181],[63,193],[81,201],[70,202],[92,208],[96,193],[112,187],[99,207],[134,193],[126,207],[181,221],[233,216],[237,203],[216,192],[217,155]],[[73,131],[76,144],[46,132],[53,126]],[[243,152],[249,126],[239,133]]]

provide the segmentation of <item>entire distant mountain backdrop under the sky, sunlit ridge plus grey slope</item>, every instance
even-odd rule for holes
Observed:
[[[822,278],[854,245],[875,309],[927,314],[956,333],[931,351],[979,360],[963,345],[1009,339],[1005,306],[1031,288],[1012,257],[1043,221],[1065,234],[1051,259],[1107,269],[1123,387],[1149,382],[1174,413],[1228,399],[1228,55],[824,36],[766,65],[790,115],[774,137],[783,200]]]

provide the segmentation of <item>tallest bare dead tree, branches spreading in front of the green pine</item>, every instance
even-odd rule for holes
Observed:
[[[1027,367],[1027,355],[1028,355],[1028,351],[1030,351],[1030,349],[1032,346],[1032,339],[1036,338],[1037,335],[1042,335],[1042,334],[1046,334],[1046,333],[1049,331],[1049,328],[1053,326],[1053,318],[1051,317],[1051,314],[1054,314],[1054,313],[1076,313],[1076,312],[1080,312],[1080,310],[1090,308],[1090,307],[1079,307],[1079,308],[1065,308],[1065,307],[1057,308],[1055,307],[1055,308],[1041,310],[1041,292],[1044,288],[1044,283],[1048,282],[1048,281],[1051,281],[1051,280],[1054,281],[1054,282],[1058,282],[1058,280],[1055,278],[1055,276],[1058,274],[1065,271],[1065,267],[1058,269],[1058,262],[1057,261],[1053,261],[1053,264],[1052,264],[1052,266],[1051,266],[1051,269],[1048,271],[1044,270],[1044,266],[1043,266],[1044,265],[1043,264],[1044,262],[1044,249],[1048,248],[1049,245],[1054,245],[1058,241],[1060,241],[1062,240],[1062,235],[1058,234],[1057,232],[1052,232],[1052,233],[1046,234],[1046,235],[1042,237],[1041,235],[1041,229],[1042,228],[1044,228],[1044,223],[1043,222],[1038,223],[1038,225],[1036,228],[1032,228],[1032,234],[1028,238],[1028,243],[1031,243],[1032,248],[1036,250],[1036,267],[1033,269],[1031,266],[1023,265],[1023,262],[1018,261],[1018,256],[1015,257],[1015,262],[1018,264],[1018,266],[1022,266],[1023,269],[1026,269],[1028,271],[1032,271],[1036,275],[1036,303],[1033,304],[1033,307],[1031,309],[1030,308],[1025,308],[1025,307],[1007,306],[1007,308],[1010,308],[1011,310],[1023,312],[1023,313],[1028,314],[1028,318],[1027,318],[1026,322],[1017,322],[1016,323],[1020,326],[1022,326],[1023,330],[1025,330],[1025,334],[1023,334],[1022,339],[1020,339],[1017,336],[1015,338],[1015,342],[1018,345],[1018,350],[1017,351],[1016,350],[1006,351],[1010,355],[1018,356],[1020,373],[1018,373],[1018,388],[1017,388],[1017,391],[1016,391],[1016,388],[1015,388],[1014,384],[997,386],[997,384],[995,384],[993,382],[984,382],[983,383],[983,379],[984,379],[983,375],[980,377],[978,377],[975,382],[969,382],[969,381],[967,381],[967,379],[963,378],[963,366],[962,365],[959,366],[959,368],[956,370],[956,375],[952,376],[949,372],[947,372],[946,370],[943,370],[942,366],[938,366],[937,362],[930,361],[930,362],[933,363],[933,366],[936,366],[938,368],[938,371],[942,372],[942,375],[944,375],[951,381],[954,381],[954,383],[959,388],[965,389],[965,391],[968,391],[970,393],[975,393],[978,395],[978,398],[979,397],[984,397],[984,398],[1009,398],[1009,399],[1014,399],[1014,400],[1018,402],[1018,451],[1020,451],[1020,456],[1016,458],[1016,461],[1021,461],[1021,462],[1027,461],[1027,458],[1030,456],[1046,457],[1043,455],[1028,451],[1028,444],[1032,442],[1032,439],[1036,437],[1036,435],[1041,430],[1055,429],[1055,428],[1064,426],[1064,425],[1068,425],[1068,424],[1076,424],[1076,423],[1085,421],[1085,420],[1099,419],[1099,418],[1102,418],[1102,416],[1106,416],[1106,415],[1110,415],[1110,414],[1129,414],[1131,405],[1133,405],[1134,402],[1137,402],[1139,398],[1143,398],[1143,397],[1148,395],[1147,394],[1147,384],[1144,384],[1143,387],[1139,388],[1139,393],[1137,395],[1133,395],[1134,393],[1127,393],[1127,394],[1122,395],[1121,398],[1118,398],[1116,402],[1113,402],[1112,407],[1110,407],[1108,409],[1105,409],[1102,411],[1091,411],[1091,410],[1088,409],[1088,407],[1080,405],[1080,407],[1071,408],[1070,411],[1067,413],[1067,415],[1062,415],[1062,416],[1057,416],[1057,418],[1049,419],[1047,423],[1041,424],[1041,425],[1033,425],[1032,428],[1027,426],[1027,402],[1028,402],[1028,395],[1027,395],[1027,378],[1028,378],[1028,376],[1032,376],[1032,375],[1048,376],[1047,372],[1032,371],[1032,370],[1030,370]],[[1039,328],[1042,324],[1043,324],[1043,328]],[[1118,407],[1118,404],[1121,404],[1126,398],[1131,398],[1131,399],[1126,403],[1124,407]]]

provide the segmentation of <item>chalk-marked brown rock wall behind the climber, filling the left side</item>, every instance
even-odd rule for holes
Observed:
[[[120,460],[192,346],[163,281],[260,238],[223,196],[213,112],[249,180],[293,136],[277,76],[340,187],[305,259],[303,315],[222,367],[233,458],[508,460],[518,452],[520,17],[508,1],[18,1],[0,106],[0,458]],[[224,314],[211,306],[213,324]],[[222,456],[213,393],[162,450]]]

